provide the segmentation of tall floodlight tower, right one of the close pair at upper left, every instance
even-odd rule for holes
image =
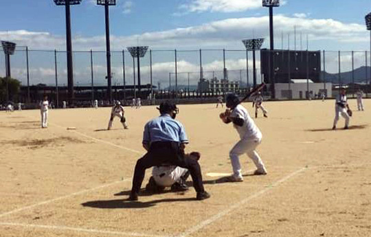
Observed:
[[[106,63],[107,63],[107,97],[112,101],[111,46],[109,43],[109,6],[116,5],[116,0],[97,0],[97,5],[104,5],[106,18]]]

